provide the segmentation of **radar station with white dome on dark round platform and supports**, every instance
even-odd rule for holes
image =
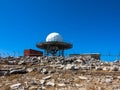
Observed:
[[[72,44],[64,42],[62,36],[56,32],[50,33],[46,42],[37,43],[36,46],[44,50],[45,56],[64,56],[64,50],[72,48]]]

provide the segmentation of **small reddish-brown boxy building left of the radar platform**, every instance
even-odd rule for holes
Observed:
[[[26,49],[24,50],[24,56],[43,56],[43,52],[33,49]]]

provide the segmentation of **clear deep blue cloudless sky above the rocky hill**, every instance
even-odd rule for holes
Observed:
[[[73,43],[66,53],[120,52],[119,0],[0,0],[0,52],[36,48],[51,32]],[[104,58],[103,58],[104,59]]]

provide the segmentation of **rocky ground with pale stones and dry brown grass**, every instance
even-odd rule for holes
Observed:
[[[91,57],[1,59],[0,90],[120,90],[119,63]]]

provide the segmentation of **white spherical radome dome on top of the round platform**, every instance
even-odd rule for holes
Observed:
[[[53,42],[53,41],[62,42],[63,39],[59,33],[54,32],[54,33],[50,33],[46,38],[46,42]]]

